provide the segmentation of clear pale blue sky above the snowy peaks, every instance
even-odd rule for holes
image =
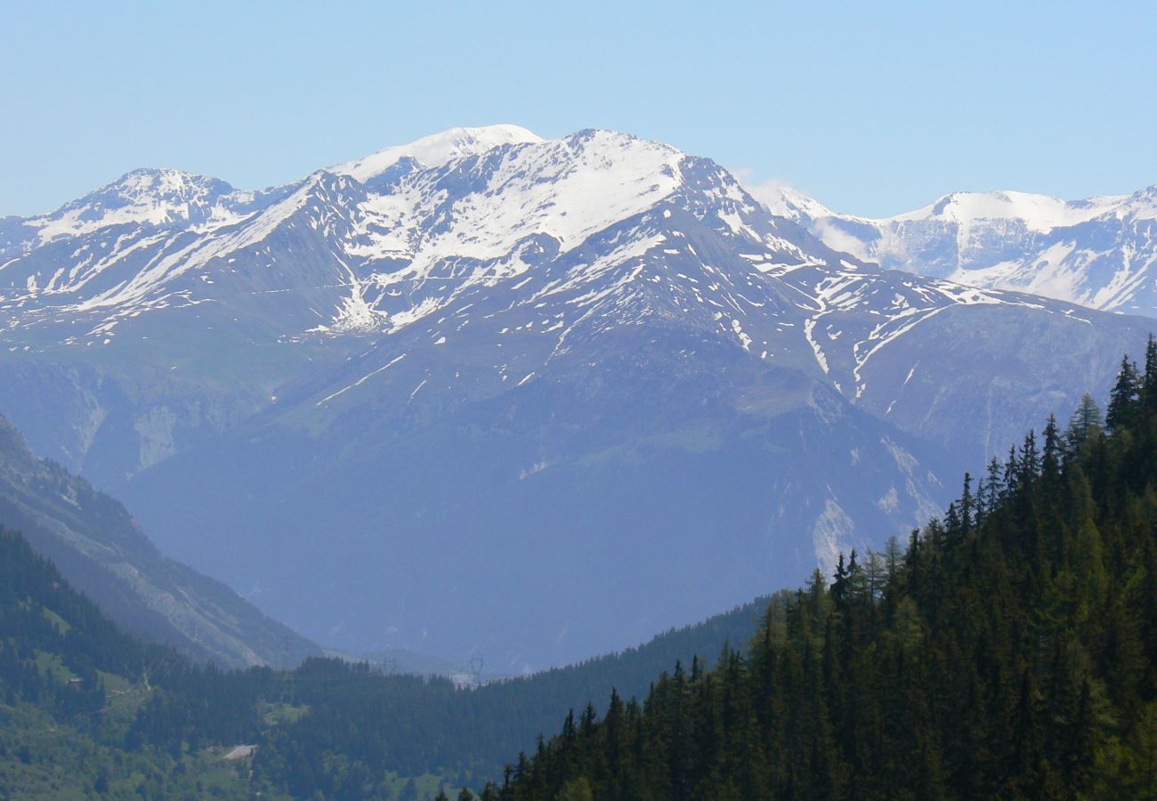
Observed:
[[[629,131],[867,215],[1157,183],[1157,3],[720,6],[7,0],[0,214],[489,123]]]

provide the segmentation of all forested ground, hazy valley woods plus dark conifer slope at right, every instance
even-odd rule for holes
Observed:
[[[1104,416],[1086,396],[1049,419],[943,519],[816,571],[757,623],[657,640],[756,629],[639,700],[641,652],[478,690],[339,660],[220,671],[119,633],[17,534],[0,557],[15,798],[1157,798],[1152,339]],[[624,695],[501,773],[543,710],[609,676]],[[257,749],[224,759],[238,744]]]

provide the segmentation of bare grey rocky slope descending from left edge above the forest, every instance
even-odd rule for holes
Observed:
[[[223,667],[320,654],[223,585],[165,559],[120,504],[35,458],[3,418],[0,526],[21,530],[105,615],[141,637]]]

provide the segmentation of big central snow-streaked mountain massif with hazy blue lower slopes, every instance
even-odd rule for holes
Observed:
[[[0,220],[0,412],[316,641],[582,659],[924,522],[1151,324],[819,210],[609,131],[138,170]]]

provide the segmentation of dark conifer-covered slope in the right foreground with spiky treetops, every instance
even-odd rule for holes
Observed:
[[[1157,798],[1157,346],[744,652],[611,697],[486,798]]]

